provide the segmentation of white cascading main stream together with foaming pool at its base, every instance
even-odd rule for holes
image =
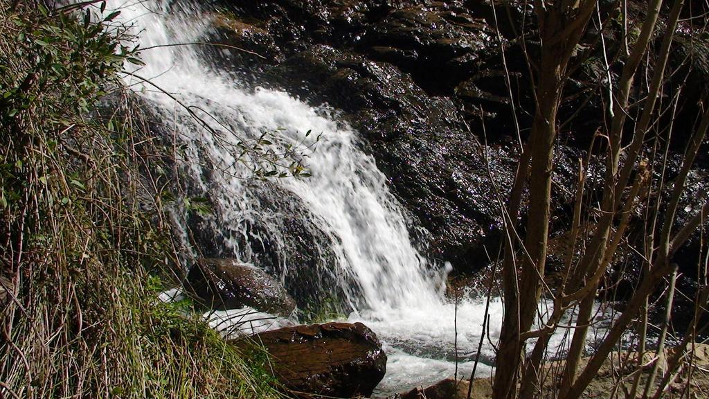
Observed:
[[[213,184],[214,180],[201,183],[200,189],[209,192],[215,212],[222,212],[220,219],[231,221],[231,231],[240,231],[240,224],[254,217],[257,200],[243,178],[249,168],[236,162],[236,151],[228,151],[228,145],[258,138],[262,131],[277,131],[281,146],[313,143],[322,133],[316,151],[307,160],[312,176],[273,179],[273,183],[306,204],[313,222],[333,239],[336,274],[350,276],[359,284],[357,292],[345,288],[346,300],[354,307],[348,319],[364,322],[384,343],[389,363],[379,386],[381,392],[453,376],[456,341],[459,378],[469,376],[480,339],[484,301],[467,299],[458,304],[456,337],[456,307],[442,295],[446,270],[428,264],[411,243],[401,205],[386,187],[374,159],[357,146],[357,132],[339,123],[332,111],[314,109],[285,92],[243,89],[237,78],[208,65],[191,45],[155,47],[203,40],[210,16],[194,6],[182,4],[182,11],[177,11],[174,1],[151,0],[115,1],[108,8],[121,9],[119,18],[133,24],[140,47],[150,48],[140,54],[145,66],[135,67],[134,72],[152,84],[135,76],[127,76],[126,82],[155,106],[167,130],[176,132],[184,145],[185,170],[200,181],[204,152],[214,170],[222,170],[216,177],[218,184]],[[218,142],[172,97],[215,116],[229,129],[213,123],[213,129],[220,132]],[[203,114],[205,120],[209,119],[207,114]],[[307,131],[313,134],[306,137]],[[284,273],[287,268],[285,265]],[[490,342],[498,337],[501,314],[501,302],[493,300],[481,351],[486,364],[493,358]],[[279,325],[276,322],[271,327]],[[491,367],[486,364],[479,364],[477,376],[489,376]]]

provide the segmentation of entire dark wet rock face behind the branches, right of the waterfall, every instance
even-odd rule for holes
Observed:
[[[527,2],[510,1],[509,7],[483,0],[213,4],[220,16],[212,40],[233,40],[265,57],[231,52],[225,65],[245,70],[256,84],[341,111],[409,212],[412,236],[425,255],[451,261],[461,272],[484,266],[485,246],[497,248],[500,234],[497,194],[505,197],[511,185],[518,135],[527,135],[534,110],[529,68],[516,41],[526,21],[526,48],[535,56],[539,43],[533,40],[535,18]],[[629,7],[631,16],[642,16],[642,6],[630,2]],[[597,35],[591,29],[582,44],[594,43]],[[618,43],[612,35],[605,40],[613,51]],[[672,68],[686,59],[683,49],[673,55]],[[247,68],[240,66],[242,58],[248,59]],[[593,92],[608,78],[601,58],[591,55],[566,84],[552,234],[569,227],[578,159],[586,158],[591,138],[603,128],[603,96]],[[700,52],[688,69],[696,84],[686,84],[682,97],[691,100],[681,112],[696,113],[691,108],[707,86],[705,59]],[[619,72],[610,71],[613,82]]]

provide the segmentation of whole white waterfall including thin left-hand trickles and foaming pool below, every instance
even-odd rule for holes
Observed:
[[[406,213],[375,160],[359,146],[357,131],[327,107],[313,108],[274,89],[246,87],[239,77],[210,65],[199,45],[180,44],[203,41],[211,28],[210,16],[197,6],[151,0],[114,1],[108,8],[121,9],[121,21],[139,35],[145,66],[131,66],[125,82],[176,138],[182,178],[191,182],[194,195],[213,204],[201,223],[219,237],[223,254],[264,267],[259,259],[269,254],[259,251],[282,251],[287,246],[283,227],[294,217],[307,219],[307,230],[324,239],[304,244],[319,265],[306,270],[316,283],[304,291],[334,285],[320,286],[321,294],[336,291],[340,309],[350,311],[345,318],[362,321],[378,334],[389,354],[380,386],[384,392],[450,377],[456,357],[461,376],[469,373],[484,301],[468,298],[456,306],[445,300],[446,268],[427,261],[412,244]],[[252,179],[253,164],[240,162],[239,145],[264,133],[273,133],[268,148],[285,153],[286,163],[303,161],[311,177]],[[274,200],[282,196],[285,202]],[[179,217],[176,222],[185,223]],[[298,259],[277,255],[278,264],[269,271],[291,290],[294,274],[303,273]],[[544,303],[540,310],[549,312]],[[493,300],[479,376],[491,373],[490,343],[498,337],[501,315],[501,300]]]

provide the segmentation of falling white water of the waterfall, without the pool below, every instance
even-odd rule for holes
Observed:
[[[126,82],[155,104],[168,130],[177,131],[184,146],[182,162],[199,184],[196,191],[215,202],[213,212],[219,214],[212,222],[230,224],[218,229],[250,236],[243,222],[288,217],[255,214],[259,198],[250,190],[275,185],[301,200],[303,212],[309,212],[312,222],[330,237],[337,257],[335,274],[351,276],[359,285],[357,292],[342,287],[355,310],[362,306],[390,310],[437,301],[443,275],[411,243],[401,205],[386,187],[374,159],[359,149],[357,133],[338,122],[330,110],[313,108],[285,92],[240,87],[238,78],[213,69],[194,46],[156,47],[199,42],[209,28],[208,16],[201,16],[196,7],[183,5],[176,15],[174,4],[168,4],[152,1],[121,9],[124,21],[135,23],[140,31],[140,47],[147,48],[140,54],[145,66],[133,68],[135,76],[129,75]],[[211,129],[191,118],[175,98]],[[274,132],[275,153],[288,153],[289,145],[303,148],[311,176],[273,177],[266,183],[250,180],[251,165],[238,162],[238,144],[255,141],[264,132]],[[316,149],[310,151],[308,146]],[[210,179],[203,177],[206,165]],[[239,240],[227,237],[227,241],[233,256],[240,256]],[[286,265],[284,273],[288,269]]]

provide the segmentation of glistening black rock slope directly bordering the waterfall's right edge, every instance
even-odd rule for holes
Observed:
[[[282,87],[299,82],[293,90],[302,97],[343,111],[396,197],[430,233],[428,255],[459,271],[484,266],[484,245],[496,248],[498,242],[497,195],[504,197],[512,184],[514,141],[485,148],[467,131],[452,100],[430,96],[397,67],[357,53],[316,45],[269,73],[272,82]],[[574,187],[583,156],[559,146],[560,187]],[[568,207],[573,192],[554,190],[557,207]]]

